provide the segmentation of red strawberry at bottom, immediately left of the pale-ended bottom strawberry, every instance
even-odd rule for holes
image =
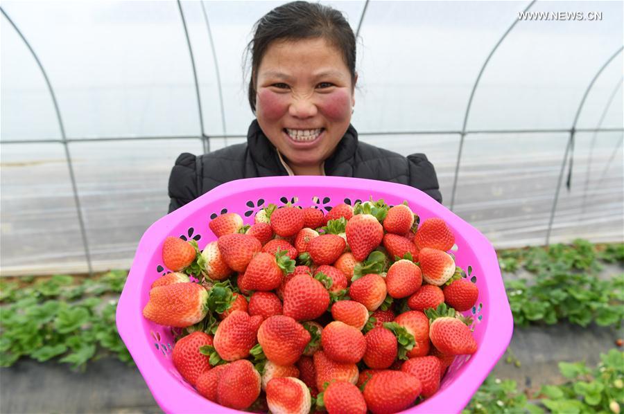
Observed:
[[[217,400],[222,406],[244,410],[260,395],[260,373],[247,359],[227,364],[217,386]]]

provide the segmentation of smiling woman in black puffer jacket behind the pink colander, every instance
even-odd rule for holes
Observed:
[[[366,143],[350,124],[358,75],[356,39],[342,13],[293,1],[254,26],[246,144],[175,161],[169,212],[235,179],[333,175],[413,186],[442,201],[433,165]]]

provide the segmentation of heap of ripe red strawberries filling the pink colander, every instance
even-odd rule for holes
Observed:
[[[476,285],[456,267],[444,220],[419,223],[405,202],[270,205],[218,240],[167,237],[173,273],[145,318],[176,328],[173,364],[200,395],[271,413],[395,413],[435,394],[456,355],[477,344]],[[189,278],[193,276],[193,281]],[[194,281],[194,280],[197,280]]]

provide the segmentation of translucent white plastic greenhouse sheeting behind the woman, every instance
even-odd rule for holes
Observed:
[[[177,155],[244,141],[244,49],[281,3],[3,1],[1,274],[129,267]],[[321,3],[359,28],[361,141],[427,154],[496,247],[624,239],[621,1]]]

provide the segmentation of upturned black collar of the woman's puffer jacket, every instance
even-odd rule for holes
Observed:
[[[247,132],[247,145],[249,148],[249,154],[254,160],[254,163],[261,165],[271,171],[275,171],[280,175],[288,175],[284,165],[279,161],[277,149],[268,140],[266,135],[260,129],[260,125],[257,119],[254,119],[249,126]],[[333,175],[332,172],[343,163],[352,164],[354,162],[355,153],[358,147],[358,132],[349,124],[349,128],[345,132],[345,135],[336,146],[336,150],[325,160],[324,169],[325,174]]]

